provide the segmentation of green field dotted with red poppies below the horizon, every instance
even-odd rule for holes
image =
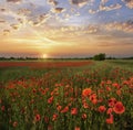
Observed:
[[[0,130],[132,130],[132,63],[1,63]]]

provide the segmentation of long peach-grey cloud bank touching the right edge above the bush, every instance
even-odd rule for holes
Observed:
[[[127,33],[133,33],[133,20],[129,20],[125,22],[113,22],[113,23],[108,23],[105,25],[105,29],[109,31],[123,31]]]

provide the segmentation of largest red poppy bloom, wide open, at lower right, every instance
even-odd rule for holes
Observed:
[[[113,107],[113,111],[115,113],[123,113],[125,111],[125,107],[123,106],[123,104],[121,101],[117,101],[114,107]]]

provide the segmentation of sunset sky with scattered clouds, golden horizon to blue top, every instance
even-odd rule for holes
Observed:
[[[0,56],[133,56],[133,0],[0,0]]]

